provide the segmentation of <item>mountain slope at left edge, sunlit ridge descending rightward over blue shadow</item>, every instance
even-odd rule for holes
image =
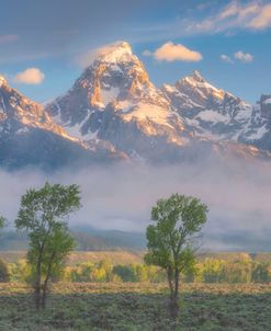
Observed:
[[[61,167],[114,160],[110,144],[86,145],[70,136],[44,112],[0,76],[0,166],[7,169]]]

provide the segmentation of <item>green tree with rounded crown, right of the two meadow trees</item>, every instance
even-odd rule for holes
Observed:
[[[156,225],[147,228],[147,264],[167,272],[170,288],[170,310],[178,315],[180,273],[189,272],[195,264],[193,239],[206,222],[207,207],[199,198],[172,194],[159,199],[151,210]]]

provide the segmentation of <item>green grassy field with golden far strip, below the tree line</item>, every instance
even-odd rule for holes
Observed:
[[[271,330],[271,285],[187,284],[181,290],[172,321],[166,284],[59,283],[38,313],[26,285],[0,284],[0,330]]]

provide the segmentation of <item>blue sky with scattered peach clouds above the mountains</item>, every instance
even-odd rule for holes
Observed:
[[[127,41],[160,87],[193,70],[256,103],[271,93],[271,1],[0,0],[0,72],[45,102],[82,72],[78,58]],[[12,19],[11,19],[12,18]]]

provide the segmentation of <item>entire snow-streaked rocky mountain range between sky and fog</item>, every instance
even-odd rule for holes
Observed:
[[[54,170],[206,156],[270,159],[270,100],[263,95],[252,106],[197,71],[158,89],[131,46],[118,42],[45,110],[0,78],[0,163]]]

